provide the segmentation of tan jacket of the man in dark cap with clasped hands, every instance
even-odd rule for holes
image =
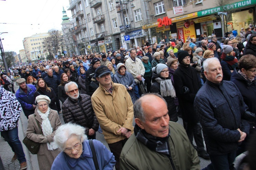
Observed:
[[[122,84],[113,83],[112,94],[105,91],[100,84],[91,96],[95,115],[100,123],[107,143],[115,143],[126,139],[117,133],[120,128],[126,128],[133,133],[133,104],[131,97]]]

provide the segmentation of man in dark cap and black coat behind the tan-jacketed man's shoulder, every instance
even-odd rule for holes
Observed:
[[[91,67],[86,71],[86,77],[85,77],[85,86],[86,86],[86,92],[87,94],[90,94],[89,91],[89,85],[91,83],[91,78],[95,75],[95,70],[100,67],[100,59],[99,58],[93,58],[91,61]]]

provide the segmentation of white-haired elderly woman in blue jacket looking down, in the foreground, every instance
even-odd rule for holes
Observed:
[[[54,142],[62,150],[53,162],[52,170],[96,169],[89,140],[83,126],[67,123],[61,125]],[[99,169],[113,169],[115,157],[100,141],[92,140]]]

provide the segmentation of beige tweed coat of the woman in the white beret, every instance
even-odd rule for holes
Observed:
[[[52,109],[50,109],[50,114],[48,115],[48,119],[52,125],[53,133],[51,135],[48,135],[47,138],[48,138],[49,142],[52,142],[53,137],[55,135],[55,131],[61,125],[61,122],[60,122],[60,118],[59,118],[57,111],[54,111]],[[39,114],[37,112],[37,108],[35,109],[35,113],[32,115],[29,115],[29,117],[28,117],[28,128],[27,128],[26,135],[29,139],[33,140],[34,142],[40,142],[40,141],[42,141],[42,139],[40,139],[40,137],[42,135],[40,134],[40,130],[39,130],[37,122],[35,120],[38,120],[38,122],[42,128],[42,118],[39,116]],[[59,153],[60,153],[59,149],[49,151],[47,148],[47,144],[41,143],[40,149],[37,153],[39,169],[40,170],[51,169],[53,161]]]

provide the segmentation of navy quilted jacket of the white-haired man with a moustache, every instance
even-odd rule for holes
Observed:
[[[196,95],[194,107],[209,155],[236,151],[240,144],[238,128],[249,134],[249,123],[241,118],[248,107],[233,82],[215,84],[207,80]]]

